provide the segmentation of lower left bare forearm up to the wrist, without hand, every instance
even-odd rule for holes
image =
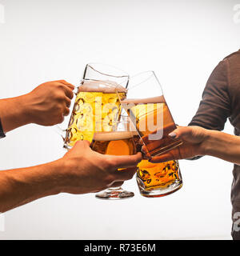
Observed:
[[[61,167],[58,160],[40,166],[0,171],[0,212],[60,193]]]

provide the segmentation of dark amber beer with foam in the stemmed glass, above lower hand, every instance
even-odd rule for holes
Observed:
[[[133,134],[130,131],[98,132],[94,134],[91,148],[100,154],[136,154]]]

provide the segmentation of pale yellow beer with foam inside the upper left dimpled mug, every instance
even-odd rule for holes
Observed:
[[[116,82],[84,80],[78,87],[65,147],[74,146],[78,140],[91,142],[95,130],[111,131],[121,112],[119,95],[125,98],[126,89]]]

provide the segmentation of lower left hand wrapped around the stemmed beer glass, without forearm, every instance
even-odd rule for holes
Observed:
[[[60,159],[62,191],[71,194],[98,192],[133,178],[142,154],[114,156],[98,154],[87,141],[78,141]],[[118,170],[126,168],[126,170]],[[60,174],[60,173],[59,173]]]

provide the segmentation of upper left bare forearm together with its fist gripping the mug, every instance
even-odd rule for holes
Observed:
[[[74,86],[59,80],[46,82],[29,94],[0,100],[0,118],[5,133],[29,123],[51,126],[69,114]]]

